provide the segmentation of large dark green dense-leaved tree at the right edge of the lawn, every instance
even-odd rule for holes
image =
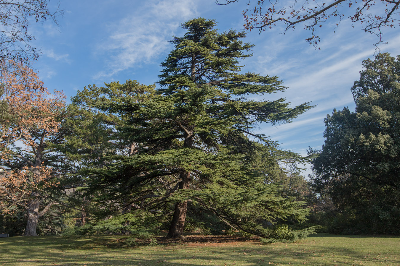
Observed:
[[[380,53],[363,61],[355,112],[334,110],[324,120],[313,182],[342,212],[342,233],[400,233],[399,59]]]

